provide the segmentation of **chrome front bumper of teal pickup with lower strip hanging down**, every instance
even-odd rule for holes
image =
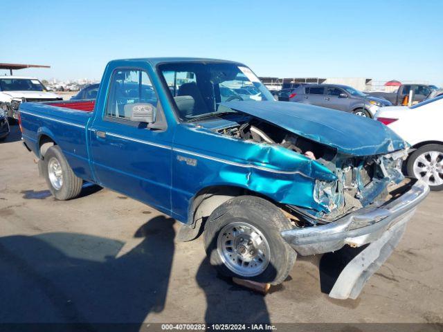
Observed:
[[[341,270],[329,297],[356,299],[397,247],[406,223],[429,193],[428,185],[413,181],[401,196],[379,208],[361,209],[327,225],[282,232],[284,239],[303,256],[333,252],[345,244],[360,247],[370,243]]]

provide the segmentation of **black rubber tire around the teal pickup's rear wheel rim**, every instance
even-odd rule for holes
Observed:
[[[51,159],[55,158],[62,169],[62,185],[60,188],[54,187],[49,178],[48,165]],[[82,191],[83,180],[75,176],[71,167],[69,166],[66,158],[64,158],[62,150],[57,145],[54,145],[46,151],[44,156],[44,177],[48,184],[51,194],[60,201],[67,201],[69,199],[75,199]]]

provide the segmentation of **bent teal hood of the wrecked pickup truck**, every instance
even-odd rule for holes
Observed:
[[[343,154],[372,156],[408,147],[408,143],[381,122],[352,113],[298,102],[231,101],[220,104],[335,147]]]

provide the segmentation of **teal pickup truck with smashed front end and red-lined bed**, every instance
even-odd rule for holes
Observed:
[[[96,100],[24,102],[19,123],[56,199],[87,181],[151,205],[182,223],[179,239],[203,232],[223,275],[278,284],[297,255],[368,245],[336,298],[359,295],[428,194],[381,122],[276,102],[237,62],[111,61]]]

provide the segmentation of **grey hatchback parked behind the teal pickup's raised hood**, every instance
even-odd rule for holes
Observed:
[[[289,101],[338,109],[368,118],[373,118],[380,107],[392,106],[388,100],[370,97],[341,84],[302,85],[293,90]]]

